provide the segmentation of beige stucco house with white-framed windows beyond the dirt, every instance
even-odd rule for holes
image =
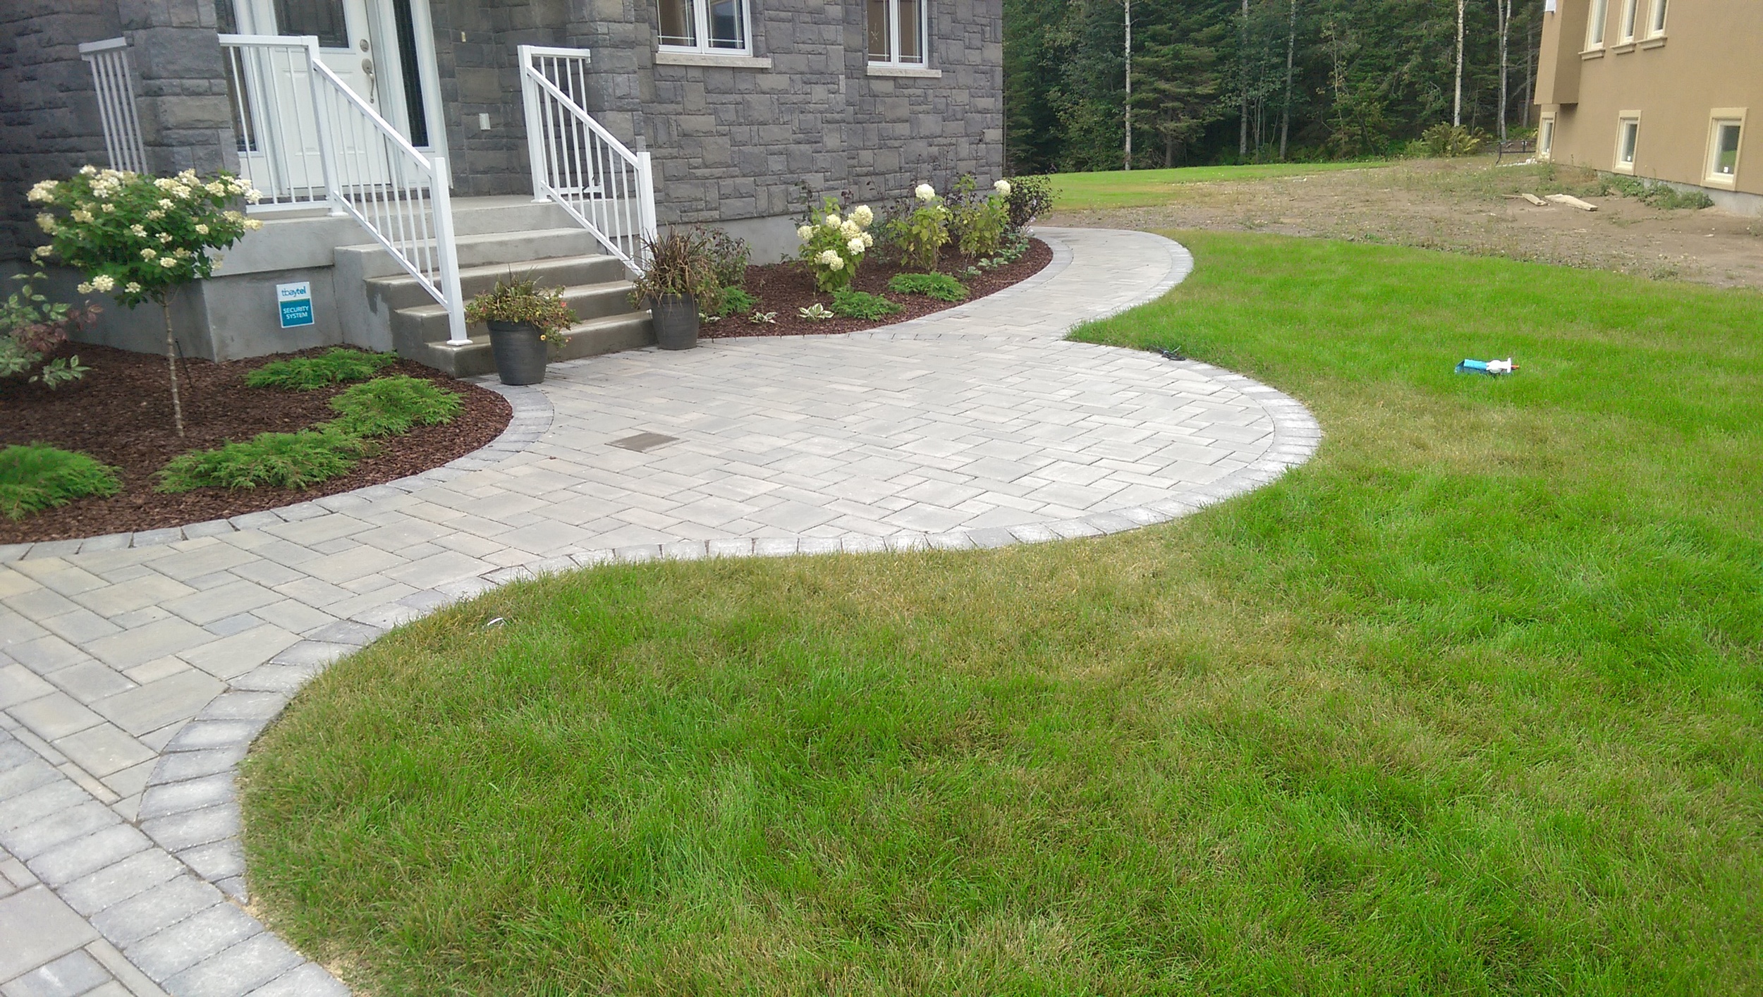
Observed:
[[[1544,0],[1537,155],[1763,211],[1763,0]]]

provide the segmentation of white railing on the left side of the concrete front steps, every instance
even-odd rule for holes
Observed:
[[[416,150],[319,58],[316,37],[220,35],[240,167],[264,203],[349,215],[448,310],[465,301],[446,159]]]

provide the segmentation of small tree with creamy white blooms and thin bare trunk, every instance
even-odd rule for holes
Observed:
[[[171,417],[182,437],[171,296],[213,273],[215,259],[208,250],[226,248],[247,231],[263,227],[229,208],[238,199],[256,203],[257,192],[227,173],[203,180],[187,169],[153,178],[86,166],[67,180],[37,183],[28,199],[46,208],[37,225],[51,240],[33,250],[32,259],[55,257],[85,271],[81,294],[100,291],[129,308],[143,301],[159,305],[166,317]]]

